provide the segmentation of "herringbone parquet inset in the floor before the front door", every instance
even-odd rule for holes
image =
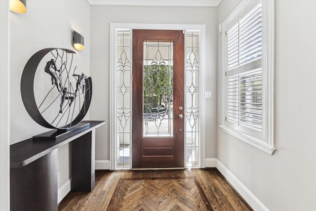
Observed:
[[[210,204],[195,176],[121,178],[108,211],[207,211]]]

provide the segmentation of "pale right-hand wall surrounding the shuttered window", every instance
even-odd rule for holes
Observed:
[[[223,0],[218,24],[240,1]],[[316,210],[316,1],[276,1],[275,142],[268,155],[222,131],[218,160],[269,210]],[[218,55],[221,51],[218,35]],[[221,57],[218,56],[221,117]],[[218,125],[221,120],[218,118]]]

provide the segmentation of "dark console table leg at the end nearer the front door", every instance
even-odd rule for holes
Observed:
[[[88,191],[94,188],[95,179],[95,130],[73,142],[72,191]]]

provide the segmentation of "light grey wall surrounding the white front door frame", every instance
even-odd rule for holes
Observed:
[[[110,138],[110,23],[205,24],[206,25],[206,157],[216,158],[216,7],[91,6],[91,76],[98,103],[91,105],[91,119],[106,120],[96,131],[96,160],[109,160]]]

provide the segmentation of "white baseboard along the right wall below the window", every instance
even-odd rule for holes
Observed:
[[[229,169],[227,169],[219,160],[217,160],[216,163],[216,168],[223,174],[227,181],[231,183],[253,210],[269,211],[269,209]]]

